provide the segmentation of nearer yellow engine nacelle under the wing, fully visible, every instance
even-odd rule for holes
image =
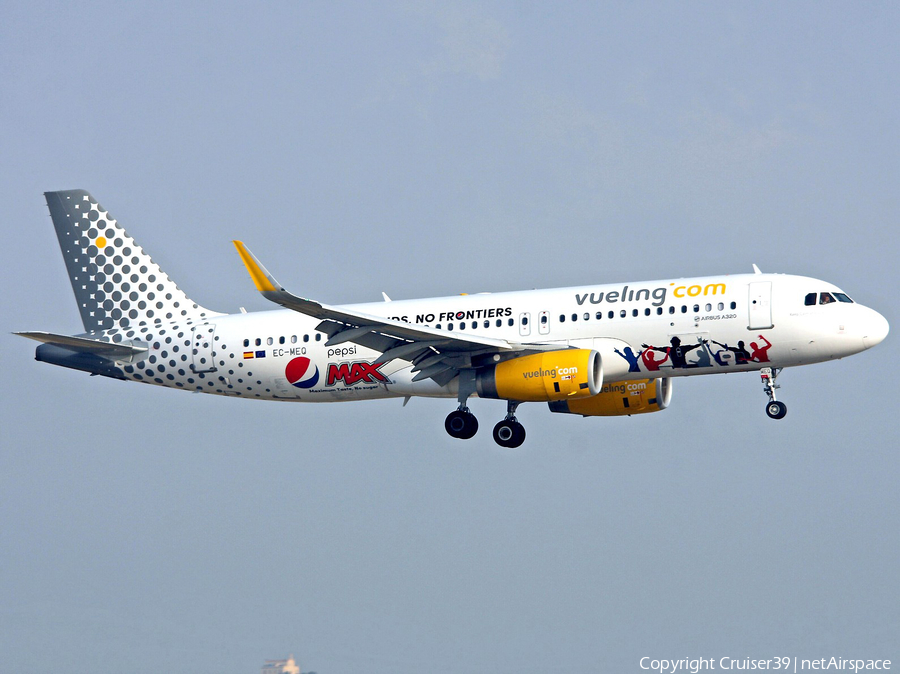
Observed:
[[[589,349],[520,356],[479,371],[478,395],[520,402],[589,398],[600,392],[600,354]]]

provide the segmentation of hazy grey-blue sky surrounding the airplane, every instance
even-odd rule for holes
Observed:
[[[893,338],[646,418],[291,406],[32,360],[77,332],[42,192],[266,309],[749,271],[897,321],[891,3],[35,2],[0,26],[4,668],[638,671],[900,660]],[[483,427],[502,416],[476,401]]]

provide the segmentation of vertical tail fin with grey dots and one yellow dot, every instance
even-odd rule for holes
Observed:
[[[44,196],[86,332],[215,315],[175,285],[88,192]]]

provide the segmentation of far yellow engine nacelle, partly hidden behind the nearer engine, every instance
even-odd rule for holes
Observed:
[[[618,417],[659,412],[672,400],[672,380],[639,379],[606,384],[592,398],[557,400],[549,403],[551,412],[581,414],[586,417]]]

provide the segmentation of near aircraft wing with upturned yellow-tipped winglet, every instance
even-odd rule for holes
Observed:
[[[380,361],[384,363],[396,358],[408,360],[417,372],[413,381],[430,378],[443,386],[460,369],[473,367],[481,358],[494,354],[510,357],[560,348],[559,345],[520,344],[494,337],[410,325],[297,297],[285,290],[243,243],[233,243],[263,297],[287,309],[322,320],[317,329],[328,335],[326,346],[353,342],[381,351]]]

